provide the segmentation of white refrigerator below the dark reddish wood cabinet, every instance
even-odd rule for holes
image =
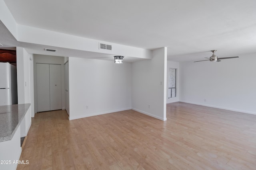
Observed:
[[[17,68],[0,63],[0,106],[18,104]]]

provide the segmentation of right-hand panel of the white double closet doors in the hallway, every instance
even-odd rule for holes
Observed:
[[[61,65],[50,64],[50,110],[62,109],[61,106]]]

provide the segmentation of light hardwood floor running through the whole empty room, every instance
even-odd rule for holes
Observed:
[[[167,121],[133,110],[68,121],[38,113],[18,170],[255,170],[256,115],[176,102]]]

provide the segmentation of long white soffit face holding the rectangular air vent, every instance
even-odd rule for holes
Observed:
[[[112,55],[118,54],[122,56],[138,57],[143,59],[150,59],[152,57],[152,51],[148,49],[120,45],[111,42],[104,42],[95,39],[88,39],[84,37],[78,37],[75,35],[69,35],[26,25],[18,25],[17,28],[17,40],[21,42],[50,45],[54,47],[106,53]],[[112,50],[99,49],[99,43],[106,43],[112,45]]]

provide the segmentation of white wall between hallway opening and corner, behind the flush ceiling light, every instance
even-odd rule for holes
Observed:
[[[69,119],[131,109],[131,80],[131,63],[69,57]]]

